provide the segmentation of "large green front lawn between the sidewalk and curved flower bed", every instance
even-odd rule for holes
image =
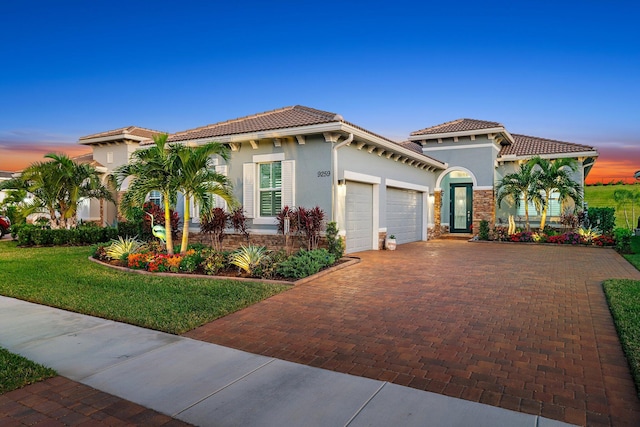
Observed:
[[[0,242],[0,295],[181,334],[288,286],[158,277],[90,262],[88,247]]]

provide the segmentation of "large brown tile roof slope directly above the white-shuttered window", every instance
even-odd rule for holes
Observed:
[[[177,132],[169,136],[169,142],[200,138],[261,132],[274,129],[317,125],[343,121],[342,116],[328,111],[295,105],[266,111],[252,116],[240,117],[195,129]]]

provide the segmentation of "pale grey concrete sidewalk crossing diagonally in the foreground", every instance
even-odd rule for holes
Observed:
[[[7,297],[0,346],[195,425],[568,425]]]

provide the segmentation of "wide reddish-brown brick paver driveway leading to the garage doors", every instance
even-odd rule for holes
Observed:
[[[601,281],[610,249],[435,240],[295,287],[187,336],[575,424],[640,425]]]

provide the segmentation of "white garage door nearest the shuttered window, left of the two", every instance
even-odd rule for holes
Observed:
[[[346,253],[372,249],[373,236],[373,186],[347,181]]]

